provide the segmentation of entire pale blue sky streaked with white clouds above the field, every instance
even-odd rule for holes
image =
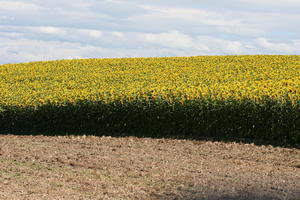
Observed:
[[[0,0],[0,64],[300,54],[300,0]]]

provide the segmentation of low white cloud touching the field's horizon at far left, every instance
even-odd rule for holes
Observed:
[[[0,38],[0,43],[0,57],[6,57],[8,63],[89,58],[105,52],[105,48],[69,42]]]

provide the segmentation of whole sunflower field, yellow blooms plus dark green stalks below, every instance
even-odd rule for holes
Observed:
[[[0,133],[300,143],[300,56],[0,65]]]

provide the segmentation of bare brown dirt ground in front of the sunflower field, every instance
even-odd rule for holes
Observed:
[[[300,150],[93,136],[0,136],[0,199],[300,199]]]

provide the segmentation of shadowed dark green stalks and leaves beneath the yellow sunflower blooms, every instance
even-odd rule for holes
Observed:
[[[300,102],[162,99],[1,107],[0,133],[215,138],[299,146]]]

